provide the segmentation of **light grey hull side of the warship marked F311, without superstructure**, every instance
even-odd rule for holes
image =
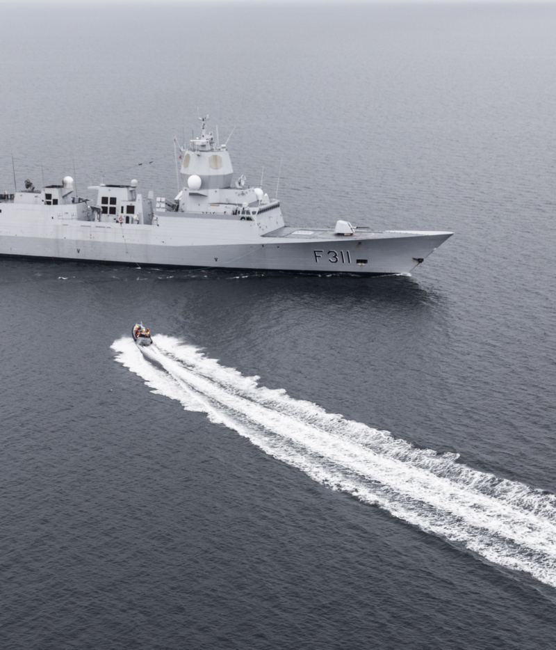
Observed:
[[[215,234],[213,222],[212,232],[199,236],[199,228],[188,228],[185,220],[177,218],[165,219],[167,223],[161,227],[76,220],[49,223],[38,215],[29,220],[35,223],[9,221],[11,225],[5,219],[0,223],[0,255],[139,266],[373,275],[409,273],[451,235],[393,232],[298,239],[259,236],[252,227],[239,234]]]

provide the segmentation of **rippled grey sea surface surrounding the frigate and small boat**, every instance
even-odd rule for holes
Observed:
[[[291,225],[455,235],[383,278],[2,258],[1,649],[554,648],[556,6],[2,24],[0,191],[173,198],[209,113]]]

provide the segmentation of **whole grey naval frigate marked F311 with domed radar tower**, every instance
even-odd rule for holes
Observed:
[[[138,266],[408,274],[452,232],[373,230],[339,219],[333,228],[286,226],[277,198],[234,182],[227,144],[202,120],[181,148],[183,188],[174,200],[138,193],[138,182],[100,184],[94,200],[61,185],[0,194],[0,255]]]

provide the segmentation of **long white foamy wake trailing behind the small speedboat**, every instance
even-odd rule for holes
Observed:
[[[556,587],[554,495],[258,386],[259,377],[243,376],[175,338],[157,335],[145,356],[131,338],[112,347],[155,393],[207,413],[313,479]]]

